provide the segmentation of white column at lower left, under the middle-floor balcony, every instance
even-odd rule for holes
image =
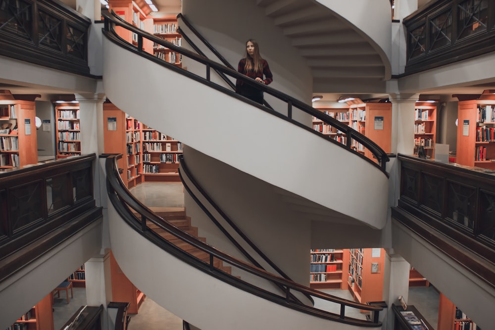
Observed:
[[[112,281],[110,273],[110,253],[95,256],[84,264],[86,277],[86,304],[88,306],[103,305],[103,330],[108,329],[106,306],[112,301]]]

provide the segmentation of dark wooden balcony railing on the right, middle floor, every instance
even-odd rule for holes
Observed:
[[[495,260],[495,175],[402,154],[398,159],[400,198],[393,217],[495,286],[488,267]],[[442,236],[481,256],[485,264]]]

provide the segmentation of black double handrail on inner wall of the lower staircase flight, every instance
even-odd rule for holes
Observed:
[[[287,279],[287,280],[291,280],[292,279],[284,273],[284,271],[282,271],[270,258],[268,258],[266,256],[266,254],[263,253],[263,251],[261,251],[259,249],[259,247],[254,244],[254,242],[252,240],[249,239],[249,237],[246,236],[246,234],[225,214],[225,212],[223,212],[222,209],[220,209],[220,207],[210,198],[210,196],[206,193],[206,191],[204,191],[204,189],[199,185],[198,181],[196,181],[196,179],[193,177],[191,171],[189,170],[189,168],[187,167],[186,165],[186,162],[184,161],[184,155],[179,155],[179,163],[180,165],[182,166],[182,168],[184,169],[184,174],[188,177],[188,179],[191,181],[191,183],[193,184],[193,186],[198,189],[199,193],[201,194],[201,196],[203,196],[203,198],[206,199],[206,201],[208,201],[208,203],[215,209],[215,211],[218,212],[218,214],[220,214],[220,216],[229,224],[229,226],[239,235],[241,236],[241,238],[263,259],[266,261],[266,263],[268,263],[268,265],[270,265],[280,276],[282,276],[284,279]],[[208,211],[208,209],[206,208],[206,206],[204,206],[203,203],[201,203],[201,201],[198,199],[198,197],[196,196],[195,193],[193,193],[193,191],[191,190],[191,188],[189,187],[189,185],[185,182],[184,180],[184,177],[182,176],[182,171],[180,170],[179,168],[179,177],[181,178],[181,181],[182,181],[182,184],[184,185],[184,188],[187,190],[187,192],[189,192],[189,194],[191,195],[191,197],[195,200],[195,202],[198,204],[198,206],[201,208],[201,210],[208,216],[208,218],[210,218],[210,220],[217,226],[217,228],[239,249],[239,251],[241,251],[245,256],[246,258],[256,267],[258,268],[261,268],[263,270],[265,270],[263,268],[263,266],[261,266],[261,264],[256,260],[254,259],[250,254],[249,252],[246,251],[245,248],[243,248],[241,246],[241,244],[232,236],[230,235],[230,233],[218,222],[218,220],[211,214],[210,211]],[[293,299],[297,299],[297,297],[292,297]],[[308,298],[312,304],[314,304],[314,300],[311,296],[307,295],[306,298]]]

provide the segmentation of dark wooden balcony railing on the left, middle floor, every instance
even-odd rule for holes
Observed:
[[[101,217],[93,196],[95,159],[0,172],[0,281]]]

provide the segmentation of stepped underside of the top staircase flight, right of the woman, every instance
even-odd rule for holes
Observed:
[[[347,6],[368,6],[362,1],[352,2]],[[375,5],[375,1],[370,2]],[[385,91],[385,81],[391,77],[388,49],[377,45],[366,34],[368,31],[360,30],[366,27],[354,25],[349,22],[351,17],[347,20],[318,1],[257,0],[256,3],[264,8],[265,15],[273,19],[273,24],[306,60],[315,93],[358,93],[360,89],[370,93]],[[388,14],[390,16],[390,5]],[[365,20],[375,20],[380,25],[391,24],[390,17],[383,22],[382,18],[373,16],[373,12],[363,18]]]

